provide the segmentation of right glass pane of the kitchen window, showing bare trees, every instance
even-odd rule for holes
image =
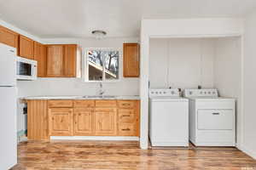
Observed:
[[[107,51],[104,58],[106,80],[119,79],[119,51]]]

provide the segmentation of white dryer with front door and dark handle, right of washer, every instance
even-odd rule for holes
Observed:
[[[189,98],[189,140],[196,146],[236,145],[236,99],[217,89],[185,89]]]

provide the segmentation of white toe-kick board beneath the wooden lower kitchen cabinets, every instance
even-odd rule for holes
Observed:
[[[51,136],[53,140],[123,140],[139,141],[139,137],[134,136]]]

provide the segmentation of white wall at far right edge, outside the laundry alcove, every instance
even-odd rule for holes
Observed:
[[[244,37],[244,138],[242,149],[256,159],[256,13],[248,14]]]

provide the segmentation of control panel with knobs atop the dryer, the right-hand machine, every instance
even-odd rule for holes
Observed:
[[[218,97],[217,89],[185,89],[185,97]]]

